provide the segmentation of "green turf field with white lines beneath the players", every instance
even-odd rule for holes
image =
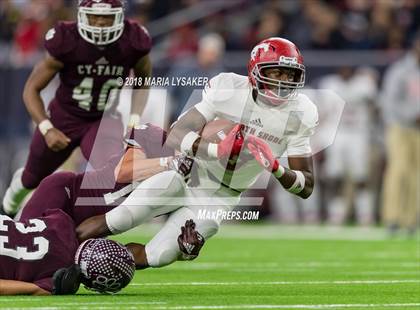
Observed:
[[[145,241],[156,230],[120,241]],[[117,295],[1,297],[17,309],[420,309],[419,238],[380,229],[225,226],[194,262],[137,271]]]

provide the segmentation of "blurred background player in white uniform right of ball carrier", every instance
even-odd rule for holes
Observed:
[[[378,93],[376,72],[370,68],[340,68],[337,74],[323,77],[319,87],[336,92],[346,101],[334,145],[326,149],[325,175],[331,199],[328,204],[329,221],[342,224],[354,205],[359,224],[374,221],[373,194],[368,186],[370,121]],[[334,103],[331,103],[334,108]],[[347,197],[350,187],[354,199]],[[352,203],[353,200],[353,203]]]

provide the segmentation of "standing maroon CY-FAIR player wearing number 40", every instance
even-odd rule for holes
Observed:
[[[37,128],[26,165],[15,172],[3,199],[7,214],[13,215],[27,193],[77,146],[94,168],[122,148],[116,91],[131,70],[144,79],[152,67],[147,30],[125,19],[123,10],[122,0],[81,0],[77,22],[59,22],[46,34],[46,56],[34,67],[23,91]],[[40,92],[57,74],[60,85],[46,111]],[[145,94],[147,90],[133,92],[132,124],[139,120]],[[99,126],[101,139],[95,141]]]

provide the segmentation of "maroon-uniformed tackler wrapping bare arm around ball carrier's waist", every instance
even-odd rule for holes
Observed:
[[[93,231],[93,235],[97,237],[106,236],[102,232],[107,229],[103,223],[104,217],[94,217],[104,215],[119,205],[136,188],[139,181],[151,181],[149,185],[152,184],[152,188],[155,188],[156,184],[153,184],[151,177],[168,173],[167,178],[170,178],[174,173],[167,170],[175,171],[175,175],[180,175],[181,179],[189,176],[193,161],[185,156],[175,156],[174,150],[164,145],[165,141],[166,133],[157,126],[147,124],[135,127],[127,140],[129,146],[125,153],[113,156],[102,169],[82,174],[58,172],[45,178],[25,205],[20,220],[38,217],[49,209],[57,208],[67,213],[76,225],[92,219],[89,229],[79,232],[83,240],[87,239],[86,233]],[[173,181],[176,184],[182,182]],[[165,191],[164,188],[161,190]],[[167,212],[171,211],[170,208],[173,206],[168,206]],[[151,214],[152,217],[161,215],[162,210],[157,208],[156,213],[152,211]],[[197,239],[193,222],[186,223],[184,228],[180,227],[178,240],[180,244],[199,243],[193,253],[195,255],[198,255],[204,243],[204,240]],[[127,247],[134,255],[137,268],[144,268],[144,246],[130,243]]]

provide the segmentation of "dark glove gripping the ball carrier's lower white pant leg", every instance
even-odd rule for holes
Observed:
[[[195,230],[193,220],[185,222],[185,226],[181,227],[181,234],[178,236],[178,246],[182,252],[184,260],[193,260],[200,253],[204,245],[204,237]]]

